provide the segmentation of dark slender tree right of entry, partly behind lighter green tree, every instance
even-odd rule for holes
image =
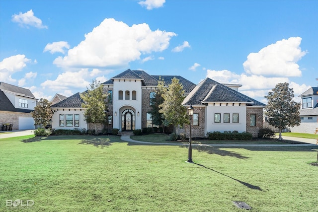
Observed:
[[[162,130],[164,132],[164,127],[163,127],[163,114],[160,113],[161,109],[161,104],[163,103],[163,94],[166,92],[166,87],[164,86],[164,80],[159,77],[158,81],[158,87],[156,89],[156,94],[154,98],[151,100],[151,110],[149,113],[151,114],[151,118],[153,119],[153,123],[155,125],[162,126]]]

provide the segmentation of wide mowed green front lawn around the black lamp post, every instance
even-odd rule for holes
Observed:
[[[315,147],[315,146],[314,146]],[[317,212],[317,152],[140,145],[117,136],[0,139],[0,211]],[[6,206],[20,199],[33,206]]]

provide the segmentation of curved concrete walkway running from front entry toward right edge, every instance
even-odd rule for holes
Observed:
[[[293,138],[293,137],[288,137]],[[178,145],[178,146],[188,146],[188,143],[154,143],[154,142],[145,142],[145,141],[135,141],[130,138],[130,136],[121,136],[121,140],[128,141],[128,142],[134,142],[134,143],[143,143],[148,145]],[[286,139],[289,140],[289,139]],[[315,140],[316,143],[316,140]],[[317,146],[312,143],[303,143],[303,144],[198,144],[193,143],[193,146]]]

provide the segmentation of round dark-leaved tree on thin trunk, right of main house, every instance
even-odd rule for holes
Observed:
[[[268,103],[265,107],[265,115],[268,123],[279,129],[279,139],[282,139],[282,129],[300,125],[299,110],[301,103],[293,100],[294,90],[289,88],[289,84],[278,83],[272,91],[265,96]]]

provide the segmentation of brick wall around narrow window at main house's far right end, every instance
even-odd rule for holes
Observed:
[[[250,114],[256,114],[256,126],[250,126]],[[246,132],[253,138],[258,137],[259,129],[263,128],[263,108],[246,107]]]

